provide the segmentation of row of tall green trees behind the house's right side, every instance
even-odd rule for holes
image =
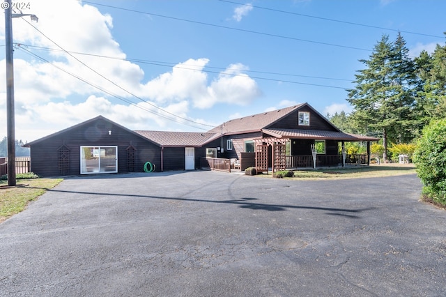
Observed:
[[[344,132],[380,137],[384,161],[396,146],[419,139],[431,121],[446,118],[446,45],[411,57],[401,33],[393,41],[383,35],[360,62],[364,68],[347,90],[353,111],[327,116]]]

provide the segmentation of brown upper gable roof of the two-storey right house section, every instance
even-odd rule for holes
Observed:
[[[283,119],[285,116],[296,112],[298,109],[302,107],[309,107],[312,111],[322,119],[324,119],[330,126],[332,126],[335,130],[339,131],[335,125],[333,125],[328,119],[325,119],[325,116],[322,116],[316,109],[314,109],[308,103],[302,103],[299,105],[294,105],[291,107],[286,107],[282,109],[273,110],[271,112],[262,112],[261,114],[253,114],[252,116],[243,116],[239,119],[233,119],[230,121],[226,121],[222,123],[222,125],[218,125],[217,127],[209,130],[208,132],[219,133],[220,135],[234,135],[241,133],[249,133],[249,132],[259,132],[263,128],[267,128],[268,126],[276,123],[280,119]],[[222,130],[223,127],[223,130]]]

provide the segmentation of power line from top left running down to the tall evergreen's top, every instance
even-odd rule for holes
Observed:
[[[233,31],[253,33],[253,34],[258,34],[258,35],[263,35],[263,36],[270,36],[270,37],[283,38],[283,39],[289,39],[289,40],[297,40],[297,41],[302,41],[302,42],[305,42],[305,43],[316,43],[318,45],[329,45],[329,46],[332,46],[332,47],[342,47],[342,48],[351,49],[351,50],[361,50],[361,51],[364,51],[364,52],[372,52],[372,50],[363,49],[361,47],[351,47],[351,46],[348,46],[348,45],[336,45],[334,43],[324,43],[324,42],[315,41],[315,40],[307,40],[307,39],[295,38],[295,37],[290,37],[290,36],[282,36],[282,35],[277,35],[277,34],[272,34],[272,33],[265,33],[265,32],[247,30],[247,29],[233,28],[231,26],[222,26],[222,25],[217,25],[217,24],[209,24],[209,23],[206,23],[206,22],[198,22],[198,21],[193,21],[193,20],[186,20],[186,19],[182,19],[180,17],[169,17],[167,15],[158,15],[156,13],[146,13],[146,12],[140,11],[140,10],[133,10],[133,9],[129,9],[129,8],[110,6],[110,5],[94,3],[94,2],[90,2],[90,1],[82,1],[82,3],[89,3],[89,4],[93,4],[93,5],[97,5],[97,6],[104,6],[104,7],[114,8],[114,9],[118,9],[118,10],[125,10],[125,11],[129,11],[131,13],[141,13],[141,14],[144,14],[144,15],[152,15],[154,17],[164,17],[164,18],[169,19],[169,20],[177,20],[177,21],[181,21],[181,22],[190,22],[190,23],[193,23],[193,24],[201,24],[201,25],[204,25],[204,26],[214,26],[216,28],[229,29],[229,30],[233,30]]]

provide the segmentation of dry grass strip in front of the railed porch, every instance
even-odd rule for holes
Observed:
[[[415,165],[413,164],[385,164],[385,165],[371,165],[345,167],[345,168],[325,168],[325,169],[308,169],[308,170],[296,170],[294,177],[286,178],[290,180],[318,180],[318,179],[346,179],[346,178],[372,178],[372,177],[385,177],[385,176],[397,176],[403,174],[416,174]],[[271,177],[269,173],[261,174],[262,177]]]

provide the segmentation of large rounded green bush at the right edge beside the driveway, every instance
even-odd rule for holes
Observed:
[[[424,192],[446,205],[446,119],[433,121],[423,129],[413,161]]]

